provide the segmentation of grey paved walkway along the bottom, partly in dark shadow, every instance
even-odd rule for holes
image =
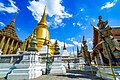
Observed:
[[[91,72],[83,72],[80,70],[67,70],[64,75],[42,75],[33,80],[100,80],[99,77],[92,76]]]

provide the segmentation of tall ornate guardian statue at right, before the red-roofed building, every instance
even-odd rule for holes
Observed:
[[[107,24],[108,20],[103,21],[102,16],[99,16],[97,26],[100,33],[100,41],[102,41],[103,54],[106,55],[109,63],[118,64],[120,62],[120,44],[117,39],[114,39],[113,34],[111,33],[111,27]]]

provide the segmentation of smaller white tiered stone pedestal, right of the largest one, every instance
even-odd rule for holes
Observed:
[[[66,69],[65,66],[62,65],[62,59],[59,55],[54,55],[54,62],[52,63],[52,67],[50,70],[50,74],[65,74]]]

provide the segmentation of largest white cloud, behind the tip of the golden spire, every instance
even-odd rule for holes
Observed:
[[[46,5],[46,14],[49,17],[54,18],[48,22],[52,22],[50,25],[55,25],[54,28],[57,26],[64,26],[63,23],[64,18],[72,17],[71,14],[65,11],[65,7],[61,5],[62,0],[39,0],[39,1],[30,1],[30,5],[27,8],[32,12],[35,20],[38,22],[41,19],[41,15],[43,14],[44,7]]]

